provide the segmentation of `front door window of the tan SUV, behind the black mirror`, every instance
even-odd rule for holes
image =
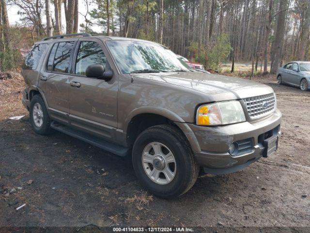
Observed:
[[[76,74],[85,75],[90,65],[102,65],[106,68],[107,58],[100,45],[94,41],[81,41],[76,61]]]

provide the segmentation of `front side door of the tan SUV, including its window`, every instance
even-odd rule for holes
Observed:
[[[90,65],[110,69],[103,43],[81,39],[75,52],[73,74],[69,78],[71,125],[104,138],[112,138],[117,127],[117,75],[109,81],[86,77]]]

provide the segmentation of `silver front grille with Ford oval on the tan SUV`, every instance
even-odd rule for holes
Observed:
[[[266,116],[276,109],[276,97],[274,93],[245,98],[243,101],[247,107],[248,116],[251,119]]]

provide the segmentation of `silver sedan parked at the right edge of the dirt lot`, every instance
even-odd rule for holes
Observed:
[[[302,91],[307,91],[310,87],[310,62],[289,62],[279,67],[277,82],[299,86]]]

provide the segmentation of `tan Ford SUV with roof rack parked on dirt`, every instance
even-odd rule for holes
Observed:
[[[22,74],[36,133],[58,130],[131,155],[142,185],[161,198],[188,191],[200,168],[239,171],[278,147],[281,113],[271,87],[193,70],[150,41],[45,38]]]

